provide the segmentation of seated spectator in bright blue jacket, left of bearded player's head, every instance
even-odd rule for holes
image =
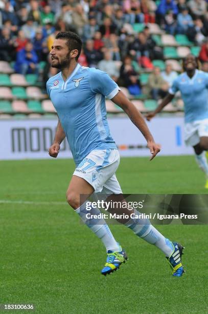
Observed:
[[[33,44],[28,42],[24,49],[17,52],[15,71],[20,74],[38,74],[38,57],[33,49]]]

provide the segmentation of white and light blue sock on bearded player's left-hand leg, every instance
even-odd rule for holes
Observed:
[[[92,208],[90,210],[86,210],[86,203],[87,206],[89,205],[89,202],[86,201],[83,203],[79,208],[77,208],[75,211],[80,215],[83,223],[89,227],[91,231],[93,231],[99,239],[102,240],[104,246],[106,247],[106,251],[113,251],[118,252],[119,251],[119,244],[117,241],[115,241],[108,225],[106,224],[104,219],[87,219],[86,214],[90,215],[98,215],[100,214],[100,210],[96,208]],[[89,207],[88,207],[89,208]]]

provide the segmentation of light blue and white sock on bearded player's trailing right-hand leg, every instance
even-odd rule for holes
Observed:
[[[135,215],[141,215],[140,212],[134,210]],[[145,240],[150,244],[158,247],[167,257],[170,257],[174,247],[169,239],[166,239],[155,227],[153,227],[149,219],[130,219],[126,224],[137,237]]]

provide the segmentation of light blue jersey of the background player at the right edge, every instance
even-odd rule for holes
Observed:
[[[187,73],[175,78],[170,94],[181,92],[184,103],[185,122],[193,122],[208,118],[208,74],[196,70],[192,78]]]

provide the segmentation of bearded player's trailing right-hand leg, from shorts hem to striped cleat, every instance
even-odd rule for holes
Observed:
[[[112,176],[104,185],[102,193],[105,193],[106,202],[115,202],[121,204],[126,202],[124,200],[119,182],[115,175]],[[111,194],[116,193],[116,194]],[[165,238],[154,226],[151,225],[149,219],[144,218],[131,218],[131,213],[134,213],[135,217],[141,216],[141,213],[136,209],[129,210],[127,206],[121,208],[111,208],[112,213],[119,215],[126,214],[129,219],[118,219],[118,221],[130,228],[137,237],[145,240],[149,244],[153,244],[158,247],[166,256],[169,263],[172,265],[174,276],[182,276],[183,268],[181,265],[182,246],[178,243],[171,242]]]

